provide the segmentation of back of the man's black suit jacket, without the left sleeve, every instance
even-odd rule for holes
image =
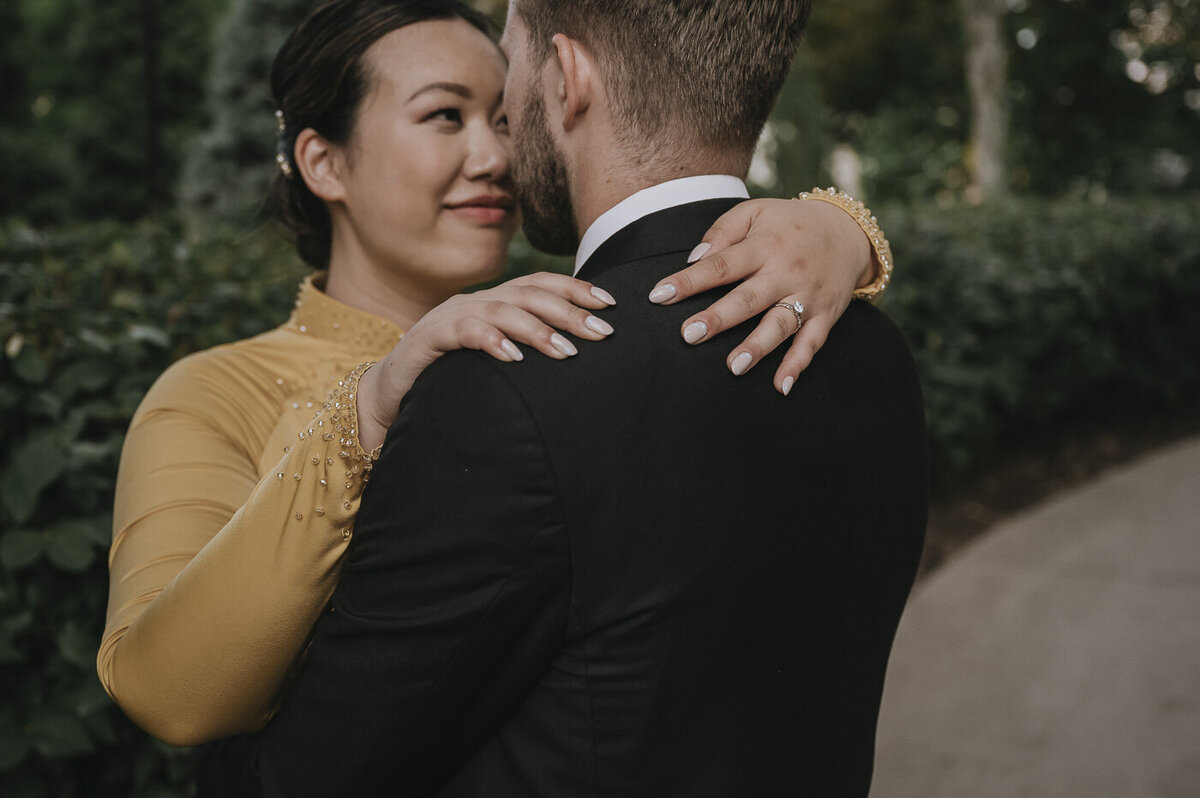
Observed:
[[[865,305],[790,397],[773,360],[734,378],[724,340],[683,343],[710,298],[644,296],[727,206],[662,211],[589,260],[618,299],[611,341],[476,366],[545,445],[570,598],[545,672],[440,794],[866,793],[924,533],[919,390]]]

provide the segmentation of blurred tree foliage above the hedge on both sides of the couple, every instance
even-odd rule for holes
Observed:
[[[474,5],[503,18],[504,0]],[[268,68],[314,6],[0,4],[0,218],[132,220],[180,202],[196,229],[252,226],[274,169]],[[1200,186],[1200,5],[1008,7],[1014,188]],[[844,143],[863,158],[872,203],[960,193],[971,158],[962,59],[958,2],[817,4],[774,116],[778,185],[826,182],[822,156]],[[1134,61],[1159,77],[1132,80]]]

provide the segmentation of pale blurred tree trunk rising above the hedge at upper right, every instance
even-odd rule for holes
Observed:
[[[971,95],[972,188],[991,199],[1008,192],[1008,47],[1006,0],[960,0]]]

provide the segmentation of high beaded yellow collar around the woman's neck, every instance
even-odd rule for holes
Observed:
[[[332,299],[323,288],[326,272],[305,277],[296,294],[295,308],[284,326],[348,352],[378,356],[389,352],[404,331],[389,322]]]

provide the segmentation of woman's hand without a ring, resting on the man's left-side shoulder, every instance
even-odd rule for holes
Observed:
[[[479,349],[511,362],[524,355],[515,342],[564,360],[575,346],[559,330],[587,341],[612,335],[590,311],[617,301],[608,292],[565,275],[536,274],[451,296],[413,325],[386,358],[359,380],[359,442],[366,451],[383,443],[400,401],[430,364],[454,349]]]

